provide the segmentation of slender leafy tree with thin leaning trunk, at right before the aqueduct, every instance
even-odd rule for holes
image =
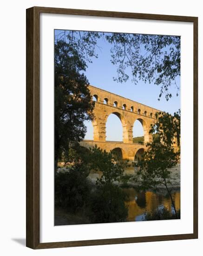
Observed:
[[[173,140],[179,130],[180,117],[178,113],[172,116],[168,113],[157,113],[157,123],[151,125],[151,133],[154,131],[160,136],[160,141],[152,141],[146,144],[147,150],[143,158],[138,161],[138,180],[142,189],[157,189],[158,185],[164,185],[167,189],[172,205],[177,216],[175,203],[169,189],[171,168],[177,165],[180,152],[173,147]]]

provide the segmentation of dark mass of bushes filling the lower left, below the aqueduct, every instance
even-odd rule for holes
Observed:
[[[115,183],[123,176],[124,164],[100,148],[72,146],[70,162],[55,174],[55,205],[68,212],[82,211],[91,223],[125,221],[125,194]],[[91,170],[102,172],[96,186],[88,179]]]

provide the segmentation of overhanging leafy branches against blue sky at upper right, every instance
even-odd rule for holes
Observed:
[[[170,85],[175,84],[180,75],[180,37],[167,35],[111,33],[106,35],[110,42],[111,62],[118,66],[118,82],[129,79],[127,67],[131,68],[133,81],[154,82],[161,86],[159,98],[165,94],[168,101],[172,97]],[[178,92],[177,92],[178,95]]]

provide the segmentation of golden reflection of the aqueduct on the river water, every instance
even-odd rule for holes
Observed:
[[[134,188],[124,189],[124,191],[128,195],[128,201],[125,202],[128,206],[128,221],[142,221],[146,211],[153,212],[157,208],[165,207],[174,212],[170,196],[164,189],[156,194],[151,191],[138,192]],[[171,195],[175,202],[176,210],[179,210],[180,190],[173,190]]]

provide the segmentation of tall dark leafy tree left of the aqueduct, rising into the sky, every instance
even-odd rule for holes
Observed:
[[[65,41],[55,43],[55,169],[63,154],[68,161],[70,145],[85,137],[85,120],[93,119],[94,102],[84,75],[83,53]]]

